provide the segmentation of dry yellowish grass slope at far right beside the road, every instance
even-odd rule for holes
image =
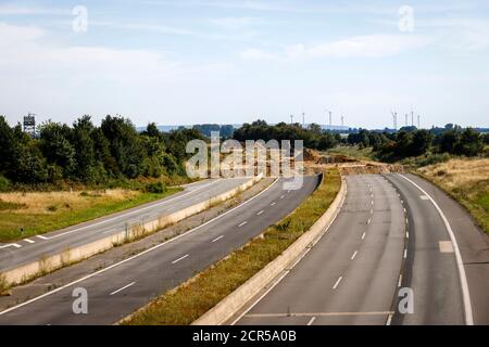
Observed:
[[[489,159],[450,159],[418,172],[464,205],[489,233]]]

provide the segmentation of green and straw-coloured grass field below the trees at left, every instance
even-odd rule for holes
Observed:
[[[0,242],[66,228],[178,191],[179,188],[170,188],[160,194],[123,189],[0,193]]]

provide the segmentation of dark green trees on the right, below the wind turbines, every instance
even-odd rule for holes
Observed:
[[[393,133],[361,129],[358,133],[350,133],[347,142],[361,147],[371,146],[379,159],[394,162],[427,153],[481,155],[485,145],[489,144],[489,133],[448,124],[443,131],[415,127],[401,128]]]

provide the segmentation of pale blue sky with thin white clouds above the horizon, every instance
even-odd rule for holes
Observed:
[[[489,0],[0,0],[11,125],[28,112],[328,124],[333,111],[385,128],[412,110],[421,127],[489,127]]]

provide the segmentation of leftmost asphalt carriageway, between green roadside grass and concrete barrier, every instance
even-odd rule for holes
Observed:
[[[170,215],[227,192],[250,178],[215,179],[186,185],[183,192],[63,230],[0,244],[0,272],[60,254],[125,230],[127,223]]]

